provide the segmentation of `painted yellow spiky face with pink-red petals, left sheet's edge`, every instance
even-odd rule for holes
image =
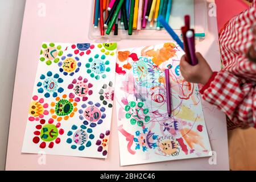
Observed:
[[[38,96],[33,96],[32,101],[30,103],[30,109],[28,113],[30,117],[28,117],[29,121],[39,121],[42,119],[44,115],[48,115],[49,111],[47,110],[48,104],[44,103],[43,98],[39,98]]]

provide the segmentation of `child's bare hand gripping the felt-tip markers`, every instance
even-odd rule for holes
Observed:
[[[199,52],[196,52],[196,58],[198,64],[192,66],[188,63],[186,56],[183,55],[180,60],[180,72],[186,81],[205,85],[213,71]]]

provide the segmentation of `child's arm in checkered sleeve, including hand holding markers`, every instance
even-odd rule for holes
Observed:
[[[180,71],[188,82],[204,85],[200,93],[204,100],[216,105],[234,123],[256,127],[256,88],[252,82],[243,82],[228,71],[212,72],[207,61],[196,53],[199,64],[191,66],[185,56]]]

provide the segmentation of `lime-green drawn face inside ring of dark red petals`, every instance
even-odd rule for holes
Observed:
[[[52,124],[44,125],[40,131],[40,138],[45,142],[51,142],[52,140],[55,140],[57,136],[58,129]]]

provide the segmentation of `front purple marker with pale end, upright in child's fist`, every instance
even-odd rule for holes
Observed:
[[[189,49],[189,55],[191,57],[191,65],[195,66],[197,65],[197,59],[196,59],[196,48],[195,48],[195,36],[194,32],[192,30],[187,31],[187,42],[188,42],[188,49]]]

